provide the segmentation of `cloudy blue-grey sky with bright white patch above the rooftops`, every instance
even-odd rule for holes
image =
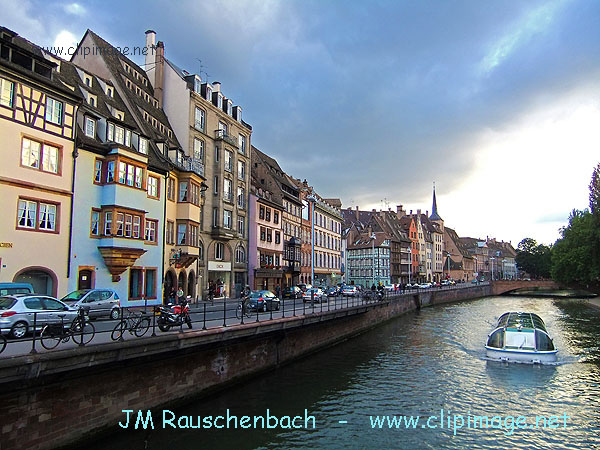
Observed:
[[[91,29],[209,82],[325,198],[552,244],[600,163],[600,2],[0,0],[42,46]],[[142,64],[141,59],[133,58]]]

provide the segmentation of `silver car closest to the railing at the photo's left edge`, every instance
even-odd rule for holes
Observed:
[[[65,328],[68,328],[77,314],[77,309],[54,297],[37,294],[5,295],[0,297],[0,332],[22,338],[33,330],[34,318],[38,331],[49,323],[63,322]]]

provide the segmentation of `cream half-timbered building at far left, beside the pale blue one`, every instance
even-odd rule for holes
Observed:
[[[0,281],[67,293],[80,102],[39,47],[0,27]]]

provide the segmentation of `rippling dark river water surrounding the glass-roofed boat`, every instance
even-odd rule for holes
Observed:
[[[559,350],[556,365],[485,359],[487,334],[506,311],[535,312],[544,319]],[[314,429],[309,421],[309,429],[297,430],[163,430],[156,412],[154,430],[116,427],[82,445],[88,450],[600,448],[598,336],[600,311],[574,299],[488,297],[425,308],[219,395],[172,408],[193,421],[226,416],[228,409],[239,417],[266,416],[269,409],[280,418],[304,418],[306,410],[315,418]],[[414,417],[408,429],[406,422],[390,428],[386,415]],[[474,416],[488,417],[488,428],[482,428],[484,419],[475,424]],[[381,428],[373,428],[376,418],[386,421]]]

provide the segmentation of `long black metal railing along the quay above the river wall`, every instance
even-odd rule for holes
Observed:
[[[477,283],[477,286],[489,282]],[[330,293],[330,295],[303,295],[301,298],[260,299],[246,301],[247,311],[240,313],[241,299],[214,298],[189,305],[189,320],[176,320],[165,325],[164,315],[173,313],[177,305],[121,307],[118,319],[92,321],[82,310],[35,311],[0,313],[0,357],[38,353],[48,349],[75,348],[86,345],[125,342],[131,339],[149,339],[166,332],[186,333],[236,325],[252,326],[257,323],[322,314],[329,311],[369,307],[388,302],[392,297],[406,293],[430,290],[449,290],[474,287],[471,283],[405,289],[362,289],[354,294]],[[183,306],[181,306],[183,307]],[[85,313],[85,316],[83,315]],[[92,311],[92,317],[110,317],[111,310]],[[163,314],[163,318],[161,318]],[[8,338],[8,339],[7,339]]]

